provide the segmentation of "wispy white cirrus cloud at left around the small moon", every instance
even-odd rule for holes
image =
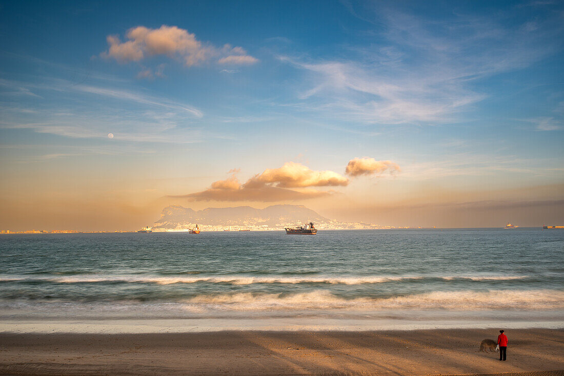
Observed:
[[[109,132],[114,140],[156,143],[193,143],[201,140],[201,132],[186,127],[204,114],[197,108],[178,101],[116,87],[76,85],[64,79],[43,82],[4,81],[3,86],[24,87],[38,92],[42,101],[29,102],[28,107],[2,106],[4,129],[29,129],[38,133],[68,138],[104,138]],[[98,99],[92,101],[92,96]],[[47,105],[47,99],[64,98],[66,106]],[[89,103],[84,106],[84,103]],[[92,105],[93,104],[93,105]],[[103,111],[96,110],[103,108]],[[183,124],[182,129],[178,128]],[[188,133],[190,136],[188,136]]]

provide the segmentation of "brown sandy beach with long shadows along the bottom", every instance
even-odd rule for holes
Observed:
[[[564,374],[564,330],[0,334],[0,374]]]

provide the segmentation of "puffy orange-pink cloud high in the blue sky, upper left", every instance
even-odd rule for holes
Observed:
[[[126,37],[129,40],[121,42],[117,36],[108,36],[109,48],[102,56],[113,57],[124,63],[154,55],[179,56],[187,67],[211,59],[219,59],[219,64],[254,64],[258,61],[255,57],[247,55],[241,47],[224,45],[222,48],[216,48],[203,45],[196,39],[195,34],[177,26],[162,25],[158,29],[136,26],[127,30]]]

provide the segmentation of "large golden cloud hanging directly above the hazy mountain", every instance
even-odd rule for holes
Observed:
[[[205,191],[174,197],[184,197],[192,201],[296,201],[334,193],[310,187],[347,184],[349,179],[337,172],[312,171],[300,163],[287,162],[279,169],[266,169],[244,184],[239,183],[236,176],[232,175],[226,180],[211,183],[211,187]]]

